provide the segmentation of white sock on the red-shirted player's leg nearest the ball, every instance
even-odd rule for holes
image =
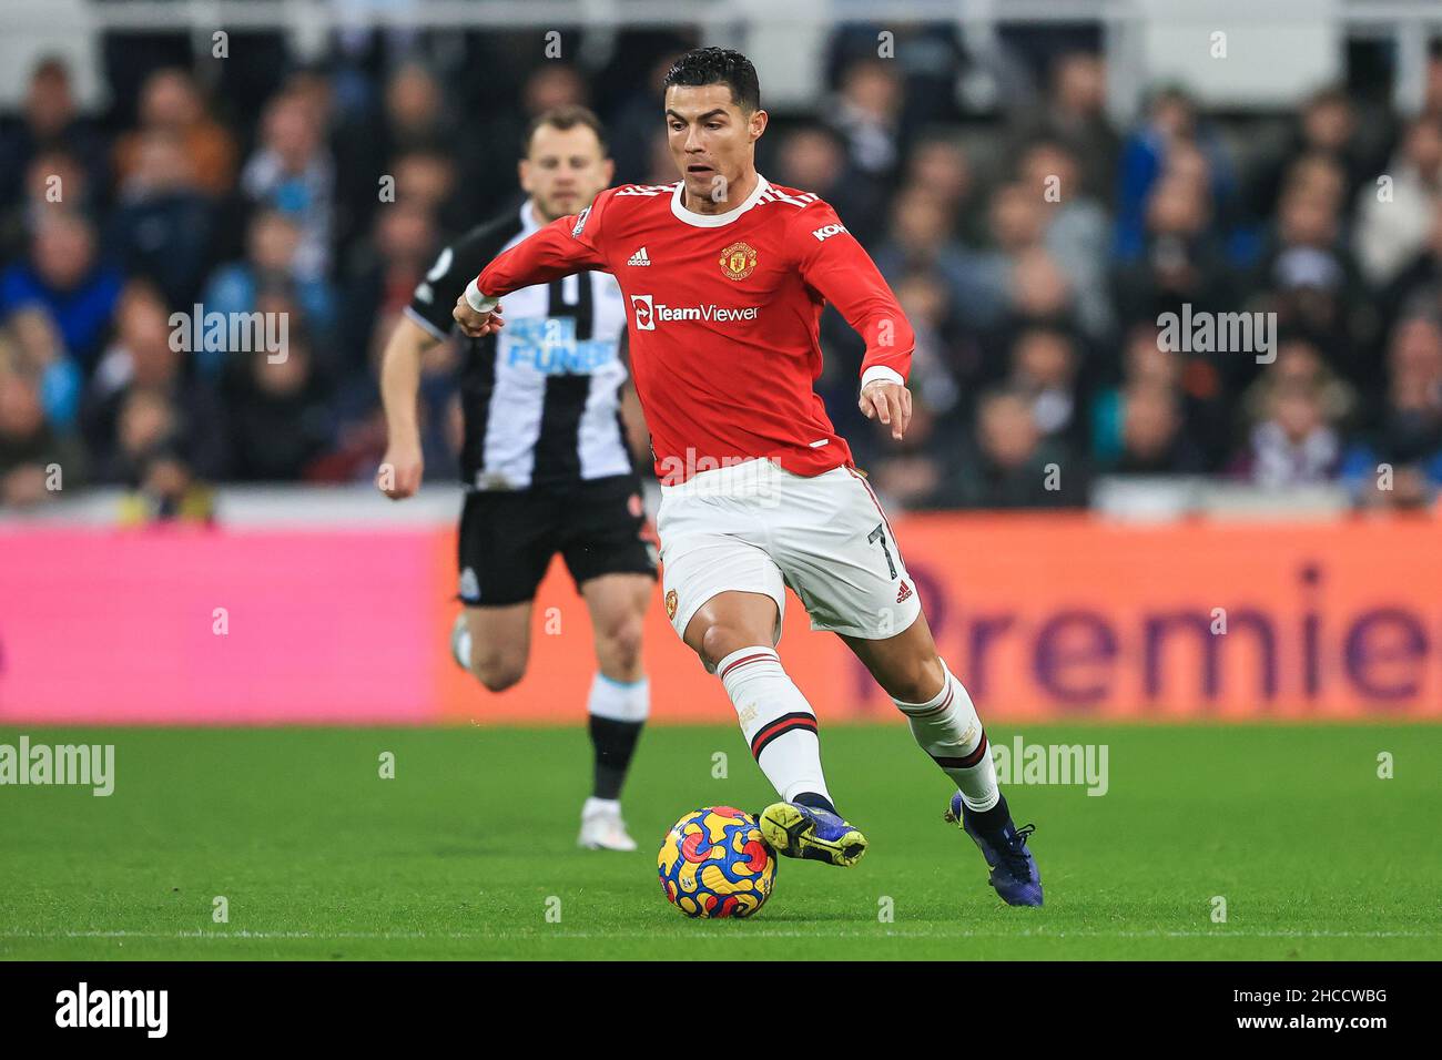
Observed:
[[[812,792],[831,802],[820,772],[816,714],[770,648],[743,648],[717,663],[751,754],[771,787],[792,802]]]

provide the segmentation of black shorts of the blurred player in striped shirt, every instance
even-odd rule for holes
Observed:
[[[601,574],[656,577],[640,479],[617,474],[565,489],[472,490],[460,515],[460,600],[532,600],[557,552],[580,590]]]

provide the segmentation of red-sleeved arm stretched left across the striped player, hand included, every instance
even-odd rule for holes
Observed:
[[[510,291],[593,268],[610,271],[597,237],[609,198],[610,192],[601,192],[580,213],[552,221],[486,265],[456,299],[453,317],[460,329],[479,339],[505,327],[500,299]]]

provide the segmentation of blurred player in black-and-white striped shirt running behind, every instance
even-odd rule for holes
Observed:
[[[548,111],[526,136],[526,200],[441,251],[385,352],[389,446],[378,485],[388,496],[407,498],[420,486],[421,355],[448,337],[466,283],[508,247],[583,209],[611,176],[596,115],[581,107]],[[580,844],[633,851],[620,793],[650,712],[640,640],[656,549],[620,415],[624,303],[613,277],[578,267],[513,291],[510,307],[516,319],[506,335],[461,337],[464,610],[451,652],[493,692],[516,684],[529,655],[532,599],[561,552],[596,630],[587,701],[593,790],[581,808]]]

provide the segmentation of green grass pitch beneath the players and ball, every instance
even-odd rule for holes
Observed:
[[[1105,796],[1008,787],[1018,823],[1038,826],[1038,910],[986,887],[903,724],[823,724],[832,793],[871,851],[852,870],[783,860],[770,901],[737,922],[682,917],[655,862],[682,812],[770,800],[730,727],[645,734],[630,855],[574,847],[578,727],[0,728],[0,743],[22,731],[115,744],[115,792],[0,787],[9,959],[1442,958],[1442,727],[1027,727],[1028,743],[1109,747]]]

